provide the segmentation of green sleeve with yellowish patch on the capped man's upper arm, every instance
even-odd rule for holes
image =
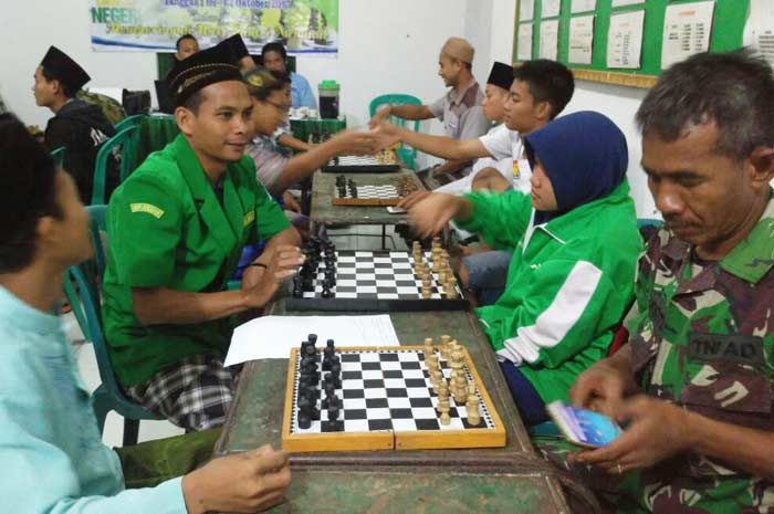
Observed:
[[[107,233],[118,281],[129,287],[169,283],[182,233],[179,195],[143,175],[127,180],[111,198]]]

